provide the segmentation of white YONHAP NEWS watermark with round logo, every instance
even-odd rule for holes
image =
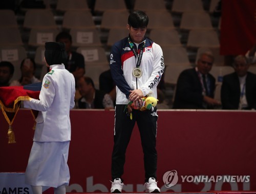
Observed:
[[[178,176],[177,170],[170,170],[167,171],[163,175],[163,182],[165,187],[169,188],[178,183],[178,180],[181,179],[181,182],[187,182],[187,183],[248,183],[250,182],[250,176],[249,175],[217,175],[217,176],[207,176],[207,175],[184,175],[184,176]]]

